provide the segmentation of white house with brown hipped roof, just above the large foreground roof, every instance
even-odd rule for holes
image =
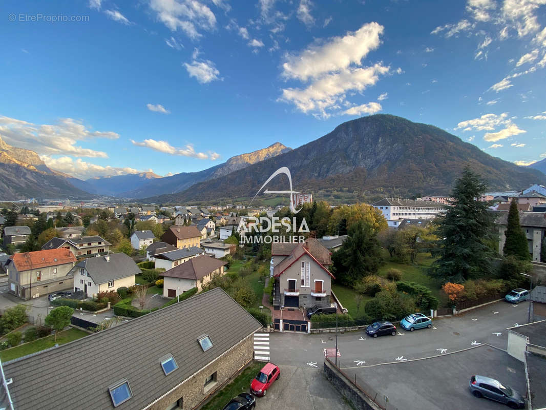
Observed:
[[[203,290],[203,285],[209,283],[212,276],[224,274],[226,264],[227,262],[213,257],[199,255],[166,272],[159,273],[164,280],[163,296],[176,297],[192,288]]]

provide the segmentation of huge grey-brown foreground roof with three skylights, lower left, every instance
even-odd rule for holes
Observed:
[[[5,377],[13,379],[9,390],[17,410],[114,409],[108,386],[123,378],[133,397],[116,410],[141,409],[261,327],[216,288],[60,347],[6,362],[3,368]],[[197,340],[203,334],[213,343],[206,352]],[[178,368],[165,376],[159,359],[167,354],[173,355]],[[203,380],[195,381],[202,389]]]

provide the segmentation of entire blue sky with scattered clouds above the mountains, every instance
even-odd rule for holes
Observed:
[[[199,171],[373,113],[546,156],[546,0],[4,1],[0,136],[79,178]]]

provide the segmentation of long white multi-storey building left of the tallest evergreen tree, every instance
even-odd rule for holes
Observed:
[[[371,206],[379,209],[387,219],[388,225],[395,228],[403,219],[434,219],[444,212],[441,203],[432,201],[383,198],[372,203]]]

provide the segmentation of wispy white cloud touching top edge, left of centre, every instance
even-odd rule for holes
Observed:
[[[150,8],[171,31],[180,29],[191,39],[202,35],[197,28],[211,31],[216,27],[216,16],[199,0],[150,0]]]

